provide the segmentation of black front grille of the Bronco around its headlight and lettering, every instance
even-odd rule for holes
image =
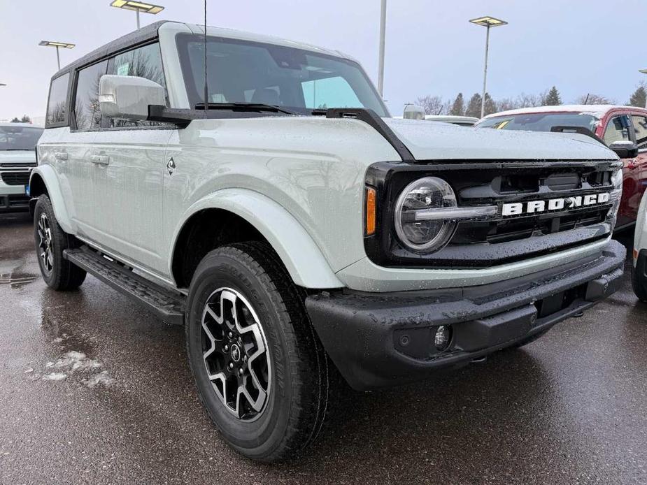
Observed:
[[[611,193],[616,161],[476,161],[429,163],[421,166],[379,166],[381,175],[367,173],[367,184],[383,187],[380,243],[364,240],[367,255],[381,266],[424,268],[486,268],[577,247],[607,238],[607,216],[613,201],[573,210],[500,215],[504,203],[547,201],[588,194]],[[372,168],[372,167],[371,167]],[[434,176],[452,186],[460,207],[492,206],[497,216],[462,221],[446,247],[432,254],[415,254],[402,246],[392,229],[394,201],[415,179]],[[380,178],[384,182],[381,183]]]

